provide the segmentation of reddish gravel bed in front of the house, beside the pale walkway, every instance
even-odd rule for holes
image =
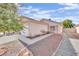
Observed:
[[[34,56],[51,56],[55,52],[61,40],[61,35],[53,34],[28,46],[28,48],[32,51]]]

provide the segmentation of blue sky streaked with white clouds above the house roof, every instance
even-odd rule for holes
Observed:
[[[79,23],[79,3],[20,3],[17,12],[36,20],[46,18],[61,22],[71,19]]]

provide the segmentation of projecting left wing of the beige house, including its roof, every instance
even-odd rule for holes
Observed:
[[[20,22],[24,25],[21,34],[27,37],[39,36],[49,31],[49,25],[42,21],[22,16]]]

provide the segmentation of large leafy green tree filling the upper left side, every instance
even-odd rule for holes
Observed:
[[[18,6],[13,3],[0,4],[0,32],[19,31],[23,28],[18,22],[17,8]]]

